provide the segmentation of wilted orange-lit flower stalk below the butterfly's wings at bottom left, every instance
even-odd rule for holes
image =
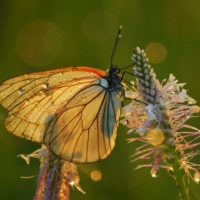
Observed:
[[[29,164],[30,157],[38,158],[41,162],[37,189],[34,200],[69,199],[70,185],[85,193],[79,185],[79,176],[76,165],[60,159],[42,146],[35,152],[20,157]]]

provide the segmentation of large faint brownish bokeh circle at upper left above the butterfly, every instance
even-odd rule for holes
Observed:
[[[60,30],[48,21],[34,21],[18,33],[16,48],[21,59],[32,66],[44,66],[53,62],[62,50]]]

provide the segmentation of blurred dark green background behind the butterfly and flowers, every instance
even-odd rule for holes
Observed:
[[[159,64],[152,63],[159,80],[174,74],[200,102],[199,11],[198,0],[1,0],[0,81],[65,66],[106,70],[118,27],[123,25],[113,64],[128,66],[134,47],[145,49],[160,43],[167,57]],[[33,199],[39,162],[32,159],[26,165],[16,156],[31,153],[39,145],[8,133],[3,125],[6,113],[1,107],[0,199]],[[200,128],[198,118],[191,124]],[[148,168],[134,170],[138,162],[130,162],[130,156],[139,144],[127,144],[126,139],[132,137],[127,130],[120,126],[116,147],[107,159],[78,165],[80,185],[87,194],[72,189],[71,200],[178,199],[175,182],[166,170],[161,170],[158,178],[152,178]],[[200,163],[200,157],[194,162]],[[90,178],[94,170],[102,173],[100,181]],[[20,178],[31,175],[36,176]],[[199,185],[193,181],[190,192],[192,200],[200,198]]]

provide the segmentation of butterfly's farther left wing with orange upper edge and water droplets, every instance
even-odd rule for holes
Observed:
[[[56,117],[67,99],[105,75],[89,67],[71,67],[11,78],[0,85],[0,103],[9,114],[6,129],[14,135],[43,142],[47,122]]]

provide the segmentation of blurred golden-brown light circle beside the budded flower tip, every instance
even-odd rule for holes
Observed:
[[[147,54],[147,57],[149,58],[149,61],[155,64],[163,62],[167,57],[167,50],[160,43],[149,44],[146,47],[145,52]]]

